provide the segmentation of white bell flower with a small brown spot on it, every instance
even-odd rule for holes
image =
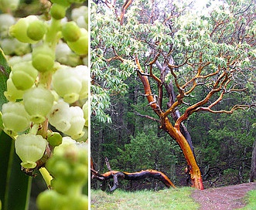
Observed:
[[[70,128],[70,119],[70,105],[63,100],[55,103],[48,115],[49,124],[53,125],[61,132]]]

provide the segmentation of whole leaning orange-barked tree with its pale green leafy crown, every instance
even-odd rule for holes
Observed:
[[[192,113],[233,113],[253,101],[218,106],[243,97],[255,74],[255,5],[249,0],[210,1],[203,11],[185,1],[97,1],[92,4],[92,112],[111,121],[110,95],[137,73],[162,130],[179,144],[192,185],[203,189],[189,132]],[[204,95],[194,97],[196,90]],[[199,99],[199,100],[197,100]],[[154,119],[155,120],[155,119]],[[157,140],[155,140],[157,141]]]

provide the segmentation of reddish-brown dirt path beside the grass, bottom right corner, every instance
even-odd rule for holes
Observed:
[[[256,182],[195,191],[192,196],[200,203],[201,210],[228,210],[244,207],[243,198],[253,189],[256,189]]]

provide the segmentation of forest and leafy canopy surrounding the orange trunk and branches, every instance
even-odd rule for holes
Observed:
[[[204,69],[205,75],[218,68],[240,69],[232,75],[236,85],[228,86],[229,90],[237,86],[239,91],[225,90],[225,97],[215,110],[230,110],[236,104],[245,104],[247,109],[235,110],[232,114],[193,113],[183,124],[191,136],[205,188],[250,181],[256,134],[255,110],[251,106],[255,104],[256,85],[254,3],[224,1],[215,7],[216,1],[210,1],[207,3],[209,13],[203,14],[194,12],[195,5],[186,1],[125,2],[132,2],[125,10],[123,1],[114,1],[114,5],[97,1],[91,8],[90,145],[95,169],[100,173],[108,171],[104,163],[108,157],[113,170],[134,172],[150,168],[164,172],[175,185],[189,185],[183,153],[176,141],[159,129],[135,66],[135,54],[139,55],[142,68],[149,69],[147,63],[158,52],[167,55],[171,50],[172,59],[179,66],[176,73],[169,76],[172,84],[176,84],[174,75],[179,83],[196,75],[188,63],[194,63],[192,67],[196,62],[202,63],[200,53],[203,62],[210,62],[210,67]],[[125,18],[120,14],[125,14]],[[220,27],[216,27],[217,24]],[[233,66],[229,56],[237,56]],[[190,60],[186,63],[188,57]],[[164,59],[159,61],[163,65]],[[153,68],[159,78],[165,73],[156,65]],[[183,113],[190,104],[202,100],[214,80],[217,79],[197,83],[193,93],[186,96],[186,103],[176,110]],[[157,84],[152,78],[149,81],[152,92],[157,95]],[[174,85],[173,91],[177,96],[179,86]],[[165,94],[162,104],[168,102],[168,93]],[[219,96],[211,98],[209,103]],[[150,178],[119,184],[128,190],[163,187]],[[92,180],[91,187],[99,188],[100,183]]]

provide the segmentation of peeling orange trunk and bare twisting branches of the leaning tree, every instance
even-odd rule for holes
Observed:
[[[247,109],[248,107],[251,107],[251,105],[237,104],[234,107],[232,107],[230,110],[212,110],[212,108],[216,106],[217,103],[219,103],[223,99],[225,93],[232,92],[232,91],[242,92],[245,89],[244,88],[237,89],[236,85],[230,86],[230,82],[232,81],[232,73],[234,72],[234,69],[230,69],[230,68],[221,69],[219,66],[215,72],[209,73],[207,75],[202,75],[203,68],[208,66],[210,62],[203,63],[202,55],[200,55],[199,59],[202,65],[198,66],[198,68],[196,69],[195,76],[193,76],[192,79],[186,81],[186,83],[183,84],[182,86],[179,84],[177,80],[177,75],[174,72],[173,68],[178,68],[179,66],[183,66],[185,64],[189,65],[188,63],[189,58],[187,57],[185,62],[180,64],[179,66],[173,66],[171,63],[167,63],[167,66],[169,67],[170,72],[172,73],[174,83],[176,85],[177,90],[179,91],[179,94],[176,97],[176,101],[173,100],[172,103],[169,103],[168,110],[163,111],[162,110],[162,90],[159,91],[159,95],[158,95],[159,100],[156,100],[156,97],[152,95],[151,86],[148,81],[148,76],[152,77],[152,79],[155,80],[156,83],[158,83],[158,86],[162,88],[162,83],[164,83],[164,80],[159,80],[159,78],[152,73],[152,64],[156,63],[158,58],[159,58],[159,54],[155,56],[155,59],[153,59],[152,62],[148,63],[148,65],[150,66],[149,75],[145,75],[143,73],[138,57],[135,58],[136,65],[138,67],[138,76],[144,86],[145,97],[147,97],[148,104],[150,105],[150,107],[152,107],[152,110],[154,110],[155,113],[159,116],[159,119],[161,122],[161,128],[163,130],[166,130],[166,132],[173,139],[175,139],[176,142],[181,147],[183,154],[186,158],[186,162],[188,164],[189,174],[193,182],[193,186],[195,188],[203,189],[203,180],[201,178],[200,168],[196,164],[196,159],[192,151],[193,149],[189,145],[189,142],[186,140],[186,137],[184,137],[183,132],[181,132],[180,130],[182,122],[184,120],[187,120],[189,115],[198,111],[208,111],[210,113],[233,113],[234,110],[237,110],[237,109],[244,110],[244,109]],[[196,86],[198,86],[198,83],[196,82],[196,80],[206,79],[210,76],[217,76],[217,80],[215,80],[213,83],[212,90],[210,90],[209,93],[207,93],[207,96],[204,97],[203,100],[200,100],[197,103],[189,105],[189,107],[186,108],[183,115],[181,115],[180,117],[177,117],[175,124],[172,125],[168,118],[169,115],[171,113],[174,113],[176,111],[176,108],[179,107],[179,105],[181,105],[182,103],[184,103],[183,98],[189,93],[192,93],[193,90],[196,88]],[[217,99],[213,100],[213,96],[216,94],[218,94],[218,97]],[[210,99],[213,100],[210,103],[210,105],[208,105],[208,107],[203,107],[207,103],[209,103]]]

